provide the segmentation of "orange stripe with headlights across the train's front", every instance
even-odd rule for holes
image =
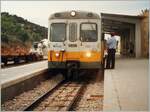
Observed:
[[[102,59],[101,52],[96,51],[80,51],[80,52],[48,52],[48,61],[66,61],[78,60],[81,62],[99,62]]]

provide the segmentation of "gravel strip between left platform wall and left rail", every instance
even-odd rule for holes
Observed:
[[[1,109],[3,111],[22,111],[41,95],[54,88],[62,80],[62,75],[57,75],[49,80],[43,81],[33,90],[24,92],[19,96],[13,98],[12,100],[5,102],[4,104],[2,104]]]

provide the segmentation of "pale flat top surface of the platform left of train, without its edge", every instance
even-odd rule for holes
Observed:
[[[0,84],[19,79],[21,77],[28,76],[32,73],[44,70],[48,68],[47,61],[40,61],[27,65],[20,65],[17,67],[1,69]]]

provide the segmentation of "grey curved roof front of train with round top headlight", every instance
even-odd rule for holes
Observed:
[[[72,12],[75,15],[71,15]],[[50,19],[100,19],[100,16],[92,12],[66,11],[54,13],[49,17],[49,20]]]

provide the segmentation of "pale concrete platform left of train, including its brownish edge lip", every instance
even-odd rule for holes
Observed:
[[[27,65],[21,65],[17,67],[4,68],[1,69],[0,74],[0,84],[2,88],[5,88],[11,84],[15,84],[31,78],[39,72],[47,70],[47,61],[40,61],[36,63],[31,63]]]

